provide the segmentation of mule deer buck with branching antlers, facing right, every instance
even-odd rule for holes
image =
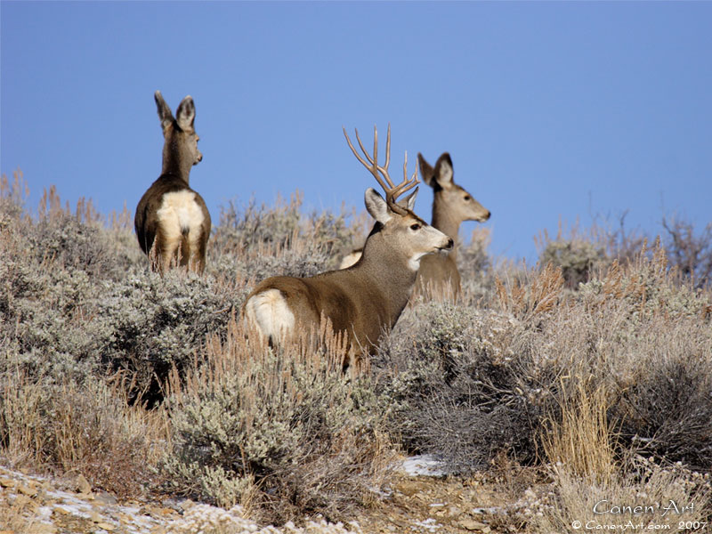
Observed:
[[[407,206],[397,203],[398,197],[414,188],[418,180],[417,169],[408,178],[406,155],[403,181],[393,185],[388,174],[390,125],[384,166],[378,165],[376,127],[373,158],[364,149],[358,130],[356,139],[366,159],[353,148],[345,129],[344,136],[354,156],[385,191],[384,200],[376,190],[366,190],[366,209],[376,223],[366,239],[363,255],[359,262],[341,271],[311,278],[265,279],[247,296],[243,313],[271,343],[319,327],[322,317],[328,319],[334,331],[345,333],[347,338],[351,361],[344,361],[345,368],[350,362],[358,363],[361,352],[372,353],[384,330],[395,325],[409,301],[421,258],[449,250],[453,241],[413,213],[417,190],[409,196]]]

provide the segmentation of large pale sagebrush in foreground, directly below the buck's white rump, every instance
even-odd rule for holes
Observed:
[[[333,341],[274,352],[230,328],[170,398],[172,489],[275,522],[367,503],[392,468],[368,378],[344,381]]]

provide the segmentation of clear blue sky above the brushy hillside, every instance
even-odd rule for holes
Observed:
[[[153,93],[195,99],[220,206],[303,191],[363,206],[375,184],[344,142],[392,125],[392,170],[449,151],[492,212],[491,251],[591,214],[660,231],[712,220],[712,3],[0,3],[0,170],[36,206],[133,212],[160,174]],[[383,150],[383,149],[382,149]],[[400,172],[396,172],[399,176]],[[432,193],[416,211],[429,219]],[[465,223],[463,235],[478,223]]]

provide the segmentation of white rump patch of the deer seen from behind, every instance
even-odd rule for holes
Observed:
[[[197,244],[205,216],[195,201],[194,191],[166,193],[156,214],[158,224],[168,241],[181,239],[185,234],[191,249]]]

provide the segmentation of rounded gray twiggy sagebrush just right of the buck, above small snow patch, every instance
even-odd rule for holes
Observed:
[[[509,315],[431,303],[401,318],[376,363],[392,432],[451,470],[489,465],[502,451],[535,455],[532,362],[512,351]]]

